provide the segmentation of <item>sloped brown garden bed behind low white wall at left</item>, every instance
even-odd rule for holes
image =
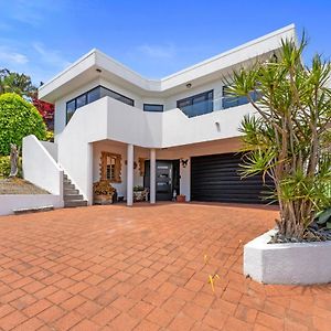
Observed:
[[[23,179],[9,178],[0,179],[0,194],[49,194],[49,192]]]

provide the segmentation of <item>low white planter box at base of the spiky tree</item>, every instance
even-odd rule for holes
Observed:
[[[244,247],[244,275],[264,284],[331,282],[331,241],[268,244],[271,229]]]

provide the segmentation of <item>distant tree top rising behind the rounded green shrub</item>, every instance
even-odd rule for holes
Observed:
[[[31,98],[36,92],[30,76],[9,71],[0,70],[0,94],[15,93],[22,97]]]

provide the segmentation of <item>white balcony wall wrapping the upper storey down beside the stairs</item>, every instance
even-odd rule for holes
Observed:
[[[90,202],[95,178],[95,163],[90,156],[95,151],[89,143],[113,140],[142,148],[162,149],[233,138],[239,135],[237,128],[243,116],[252,111],[252,106],[244,105],[188,118],[179,109],[148,113],[104,97],[74,114],[57,140],[58,162],[84,197]],[[221,124],[220,131],[216,121]]]

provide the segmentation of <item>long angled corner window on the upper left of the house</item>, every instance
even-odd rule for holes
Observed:
[[[97,86],[66,103],[66,122],[70,121],[77,108],[103,98],[104,96],[109,96],[127,105],[135,106],[135,100],[104,86]]]

